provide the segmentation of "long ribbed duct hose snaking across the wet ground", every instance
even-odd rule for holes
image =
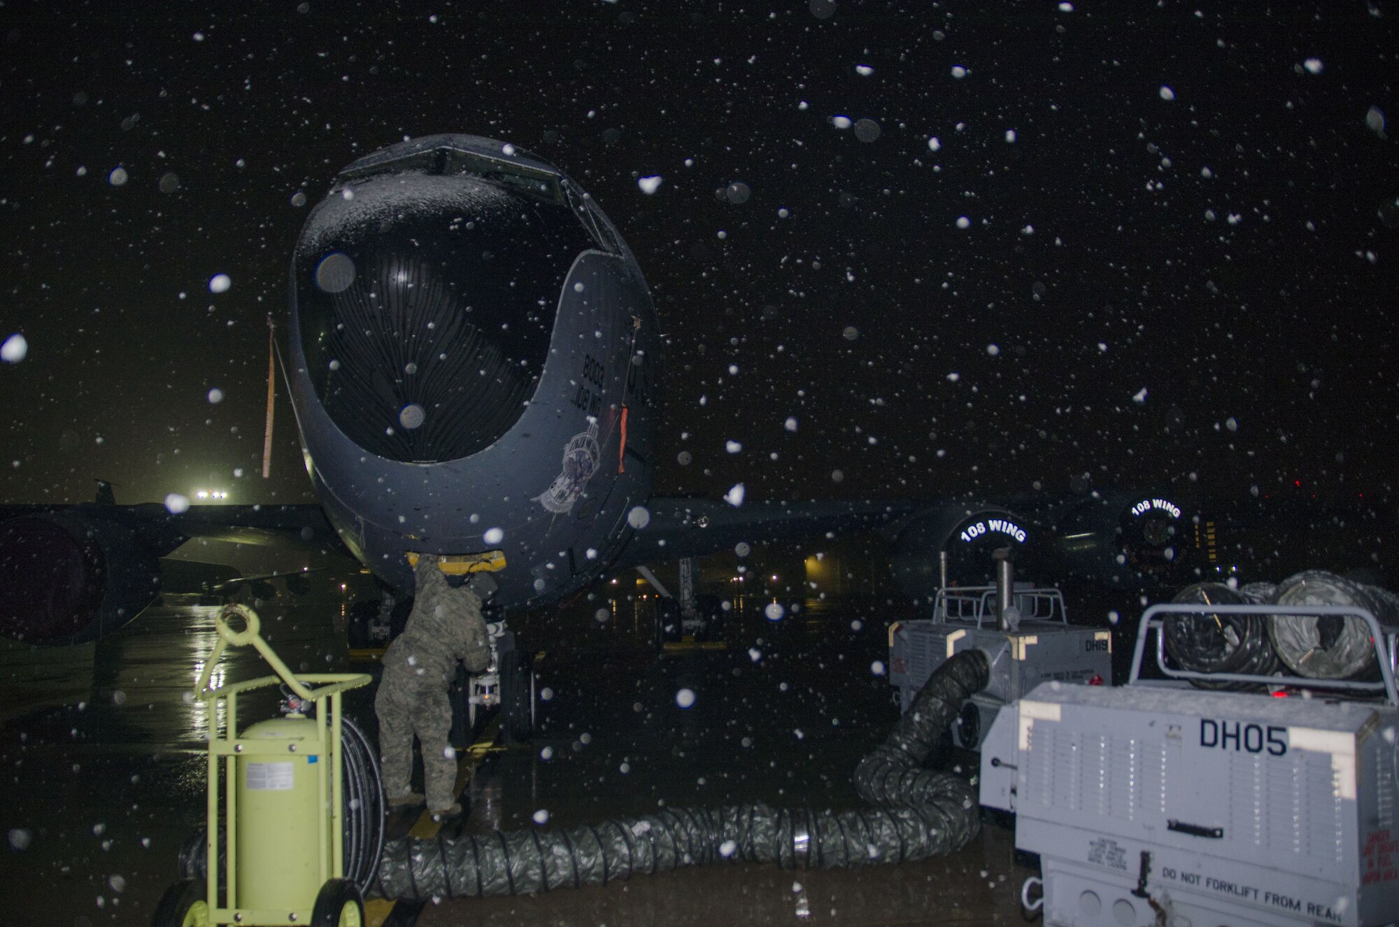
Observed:
[[[844,868],[953,853],[981,826],[977,791],[921,765],[989,672],[985,654],[972,650],[932,675],[908,714],[856,769],[856,791],[874,808],[672,808],[558,830],[406,837],[383,847],[369,893],[406,900],[525,895],[719,860]]]

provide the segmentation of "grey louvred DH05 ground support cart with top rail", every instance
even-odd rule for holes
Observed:
[[[1156,605],[1128,686],[1046,682],[982,744],[981,801],[1016,814],[1053,927],[1378,927],[1399,920],[1399,695],[1391,643],[1358,608],[1286,606],[1370,625],[1379,679],[1170,667],[1167,620],[1276,605]],[[1216,619],[1217,620],[1217,619]],[[1142,679],[1147,637],[1163,679]],[[1192,688],[1252,682],[1255,692]],[[1281,695],[1281,697],[1279,697]]]

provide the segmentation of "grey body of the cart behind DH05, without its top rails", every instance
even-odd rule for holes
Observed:
[[[1021,620],[1016,630],[960,620],[901,622],[890,629],[890,682],[908,711],[928,678],[953,654],[981,648],[990,658],[990,682],[968,699],[953,725],[957,746],[978,749],[1003,706],[1041,682],[1098,685],[1112,678],[1112,639],[1105,630],[1059,620]]]

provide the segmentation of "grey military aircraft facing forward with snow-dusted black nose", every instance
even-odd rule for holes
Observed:
[[[1192,510],[1151,494],[1028,500],[1023,514],[967,499],[653,497],[662,339],[641,269],[572,179],[491,139],[416,139],[343,169],[297,241],[284,330],[320,504],[172,513],[108,493],[0,507],[0,633],[109,633],[154,601],[157,559],[190,538],[336,539],[404,592],[407,555],[434,555],[449,573],[492,571],[501,611],[621,567],[852,529],[894,538],[914,599],[946,581],[929,570],[947,550],[989,576],[989,548],[1042,535],[1042,566],[1130,584],[1193,566],[1199,546]]]

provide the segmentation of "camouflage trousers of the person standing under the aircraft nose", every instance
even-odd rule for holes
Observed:
[[[452,704],[439,679],[390,667],[374,699],[379,716],[379,760],[389,798],[407,795],[413,776],[413,735],[422,748],[422,784],[428,808],[456,801],[456,753],[452,751]]]

